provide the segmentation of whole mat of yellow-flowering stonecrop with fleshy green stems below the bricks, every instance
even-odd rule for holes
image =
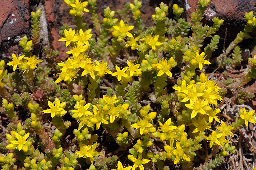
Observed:
[[[256,169],[241,148],[243,139],[256,152],[243,131],[256,123],[248,104],[256,44],[248,60],[239,47],[256,27],[252,11],[216,56],[224,21],[203,24],[210,0],[199,0],[191,22],[162,2],[148,28],[139,0],[118,12],[107,7],[102,21],[96,0],[64,2],[75,20],[59,31],[65,61],[50,46],[39,55],[39,9],[32,36],[19,41],[23,51],[0,62],[3,170],[210,170],[235,169],[235,161]]]

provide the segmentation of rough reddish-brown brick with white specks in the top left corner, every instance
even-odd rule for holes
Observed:
[[[0,57],[9,57],[19,51],[17,43],[20,38],[30,34],[30,2],[0,0],[0,7]]]

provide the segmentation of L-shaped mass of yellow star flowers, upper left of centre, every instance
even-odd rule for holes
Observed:
[[[112,72],[108,70],[108,63],[99,63],[97,60],[91,61],[87,55],[85,55],[86,50],[90,46],[88,40],[91,38],[91,29],[83,32],[82,29],[79,33],[75,34],[75,30],[72,28],[69,31],[65,30],[65,37],[59,41],[66,41],[66,46],[71,44],[71,50],[68,54],[72,54],[72,57],[68,58],[65,62],[58,63],[62,68],[61,73],[57,73],[59,76],[55,83],[59,83],[62,80],[70,83],[74,78],[77,78],[77,72],[83,69],[81,76],[89,74],[93,79],[95,75],[103,77],[105,74],[111,74]],[[73,43],[71,43],[73,42]]]

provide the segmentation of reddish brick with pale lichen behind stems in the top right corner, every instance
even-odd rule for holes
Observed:
[[[186,3],[186,18],[191,21],[190,14],[197,9],[197,1],[187,0]],[[207,10],[205,11],[203,22],[207,25],[212,25],[213,17],[219,17],[224,20],[224,25],[221,26],[218,34],[224,38],[225,29],[227,28],[227,40],[233,40],[236,38],[237,33],[243,31],[246,19],[244,18],[245,12],[253,11],[255,13],[256,0],[211,0]],[[256,36],[254,30],[250,33],[252,36]]]

